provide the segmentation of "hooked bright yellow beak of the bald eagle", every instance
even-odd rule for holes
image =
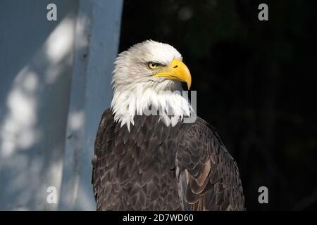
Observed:
[[[192,77],[187,66],[178,59],[174,59],[170,65],[161,68],[161,71],[153,75],[153,77],[166,77],[168,79],[186,82],[188,89],[192,85]]]

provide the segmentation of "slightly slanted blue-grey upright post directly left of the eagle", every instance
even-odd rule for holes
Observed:
[[[59,210],[95,210],[91,158],[110,106],[123,0],[80,0]]]

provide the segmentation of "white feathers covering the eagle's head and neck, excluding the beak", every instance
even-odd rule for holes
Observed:
[[[149,62],[170,65],[174,59],[182,60],[182,56],[173,46],[151,40],[119,54],[113,70],[111,108],[121,126],[127,124],[130,130],[135,115],[151,115],[158,110],[166,126],[175,126],[183,117],[189,117],[192,107],[181,96],[180,82],[152,77],[155,72],[147,66]]]

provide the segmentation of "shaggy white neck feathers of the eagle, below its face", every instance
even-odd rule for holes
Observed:
[[[125,86],[125,91],[118,87],[113,91],[111,110],[115,122],[121,127],[126,125],[130,131],[130,125],[134,125],[136,115],[159,115],[166,126],[174,127],[184,117],[189,117],[192,106],[182,96],[182,89],[165,91],[148,86]]]

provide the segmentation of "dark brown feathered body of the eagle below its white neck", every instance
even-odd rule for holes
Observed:
[[[97,210],[244,210],[237,165],[209,124],[134,121],[128,131],[110,109],[102,115],[92,159]]]

